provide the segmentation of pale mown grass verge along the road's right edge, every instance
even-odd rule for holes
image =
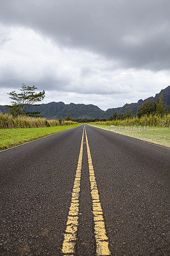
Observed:
[[[110,125],[93,126],[110,131]],[[137,128],[136,130],[133,130],[132,127],[126,129],[125,127],[116,127],[114,132],[170,148],[170,127],[148,127],[147,129]]]

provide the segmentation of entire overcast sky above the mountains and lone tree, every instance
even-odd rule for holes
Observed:
[[[170,83],[169,0],[0,0],[0,104],[22,83],[47,102],[123,106]]]

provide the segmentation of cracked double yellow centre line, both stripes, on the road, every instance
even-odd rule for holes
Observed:
[[[87,156],[89,163],[89,179],[90,179],[90,193],[92,197],[92,209],[94,216],[94,235],[96,239],[96,255],[111,255],[109,250],[108,237],[106,236],[106,228],[103,218],[103,210],[99,199],[99,191],[97,189],[97,182],[94,173],[94,166],[92,164],[92,157],[90,154],[89,141],[85,126],[83,128],[83,135],[81,139],[80,154],[78,157],[78,165],[76,169],[76,176],[74,179],[73,192],[71,198],[71,205],[67,217],[66,231],[64,234],[64,241],[62,243],[63,255],[74,255],[74,247],[76,244],[76,233],[78,230],[78,211],[79,211],[79,196],[80,196],[80,180],[81,180],[81,165],[83,157],[83,140],[87,144]]]

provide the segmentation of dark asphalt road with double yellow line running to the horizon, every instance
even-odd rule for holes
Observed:
[[[0,255],[169,255],[169,149],[83,127],[0,152]]]

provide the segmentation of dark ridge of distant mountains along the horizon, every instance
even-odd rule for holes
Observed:
[[[170,106],[170,86],[161,90],[160,93],[155,95],[155,97],[150,97],[148,99],[156,101],[161,93],[164,96],[164,104]],[[68,111],[72,118],[110,118],[110,116],[113,115],[113,112],[117,111],[117,113],[125,113],[127,108],[131,108],[132,113],[136,115],[138,108],[143,102],[145,102],[145,100],[138,100],[136,103],[125,104],[123,107],[110,108],[106,111],[92,104],[64,104],[64,102],[50,102],[47,104],[41,104],[40,106],[33,106],[31,111],[39,111],[41,112],[41,116],[46,118],[66,118]],[[8,109],[0,105],[0,111],[6,113]]]

